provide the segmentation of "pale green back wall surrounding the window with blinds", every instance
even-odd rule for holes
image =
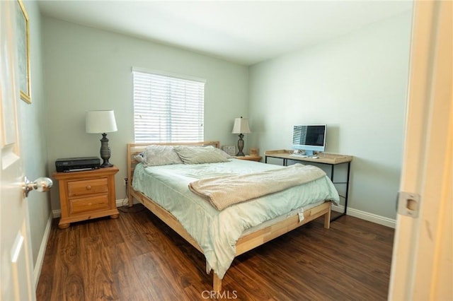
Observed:
[[[108,134],[117,165],[116,197],[125,196],[126,143],[134,141],[132,66],[207,80],[205,140],[231,145],[234,118],[248,114],[248,69],[183,49],[43,17],[48,164],[57,158],[98,155],[101,135],[86,134],[85,112],[115,110],[118,131]],[[52,210],[59,209],[57,189]]]

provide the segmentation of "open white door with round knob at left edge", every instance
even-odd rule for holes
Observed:
[[[16,1],[0,1],[0,300],[35,300],[27,201],[18,145]]]

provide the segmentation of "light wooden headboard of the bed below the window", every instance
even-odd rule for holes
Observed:
[[[157,146],[214,146],[220,147],[219,141],[200,141],[200,142],[171,142],[171,143],[127,143],[127,185],[130,191],[132,186],[132,177],[134,176],[135,165],[138,164],[137,160],[134,159],[136,155],[142,153],[144,148],[151,145]],[[132,203],[130,203],[132,205]]]

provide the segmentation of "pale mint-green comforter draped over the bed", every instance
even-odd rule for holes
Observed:
[[[327,176],[279,193],[237,203],[217,211],[207,201],[188,189],[197,179],[220,175],[244,175],[281,168],[281,166],[231,159],[226,163],[162,165],[135,167],[132,187],[166,208],[202,248],[207,272],[210,268],[220,279],[236,254],[236,242],[244,231],[268,220],[285,216],[310,203],[332,200],[339,196]]]

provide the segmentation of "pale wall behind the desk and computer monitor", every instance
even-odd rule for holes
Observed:
[[[292,125],[328,125],[328,153],[353,155],[348,206],[395,218],[411,14],[250,69],[251,146],[289,149]]]

